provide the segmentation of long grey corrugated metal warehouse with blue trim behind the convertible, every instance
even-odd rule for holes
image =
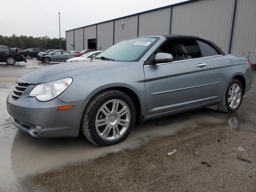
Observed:
[[[256,64],[256,0],[189,0],[68,30],[66,48],[105,50],[124,39],[159,34],[200,36]]]

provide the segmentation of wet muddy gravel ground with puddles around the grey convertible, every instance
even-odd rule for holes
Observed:
[[[256,191],[255,72],[235,113],[213,106],[158,118],[98,148],[82,135],[36,139],[12,126],[6,96],[14,79],[44,67],[24,65],[0,64],[0,192]]]

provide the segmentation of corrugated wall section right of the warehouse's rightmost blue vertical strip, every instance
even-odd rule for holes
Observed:
[[[231,53],[244,53],[256,64],[256,0],[238,0]]]

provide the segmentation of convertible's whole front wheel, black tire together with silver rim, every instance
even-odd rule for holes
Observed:
[[[103,109],[104,106],[108,110]],[[117,110],[116,106],[118,106]],[[113,110],[114,108],[115,110]],[[104,115],[106,113],[107,115]],[[124,115],[122,115],[123,113]],[[135,118],[134,104],[126,94],[116,90],[106,90],[94,96],[88,103],[82,117],[81,128],[84,136],[90,142],[100,147],[106,147],[125,140],[134,126]],[[98,120],[103,122],[98,123]],[[101,124],[103,125],[100,126]]]

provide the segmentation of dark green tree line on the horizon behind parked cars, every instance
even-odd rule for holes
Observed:
[[[22,50],[28,48],[42,48],[42,49],[59,49],[60,39],[44,37],[33,37],[33,36],[2,36],[0,35],[0,45],[8,46],[10,48],[21,48]],[[66,50],[66,39],[61,38],[61,48]]]

